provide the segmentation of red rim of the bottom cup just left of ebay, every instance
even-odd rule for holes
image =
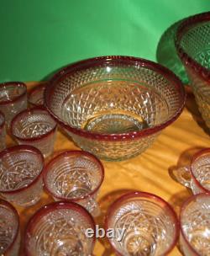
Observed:
[[[83,206],[78,205],[74,202],[68,202],[68,201],[53,202],[53,203],[50,203],[49,205],[42,206],[38,211],[34,213],[33,216],[30,217],[27,223],[25,232],[24,232],[24,253],[26,254],[26,256],[31,256],[31,253],[29,252],[29,249],[28,249],[29,234],[35,227],[37,221],[39,221],[43,216],[45,216],[49,212],[61,210],[61,209],[69,209],[69,210],[77,211],[79,214],[84,216],[92,226],[92,230],[94,230],[94,234],[95,234],[95,229],[96,229],[95,221],[92,215]],[[94,235],[92,237],[92,248],[94,248],[95,243],[96,243],[96,237]]]

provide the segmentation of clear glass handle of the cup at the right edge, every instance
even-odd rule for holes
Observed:
[[[171,173],[177,182],[191,189],[190,166],[181,166],[180,168],[175,168],[171,171]]]

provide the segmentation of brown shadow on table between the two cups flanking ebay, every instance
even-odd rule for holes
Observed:
[[[108,193],[107,195],[104,195],[101,200],[99,200],[98,205],[101,209],[101,214],[98,216],[95,221],[99,227],[105,228],[105,218],[108,212],[108,208],[110,205],[113,204],[115,200],[117,200],[120,196],[131,192],[132,189],[120,189],[115,190],[111,193]],[[102,246],[105,248],[104,252],[102,253],[102,256],[110,256],[113,253],[113,248],[111,248],[111,245],[108,243],[108,238],[98,238],[98,242],[102,243]]]

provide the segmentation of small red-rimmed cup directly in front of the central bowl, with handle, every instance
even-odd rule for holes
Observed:
[[[55,200],[71,200],[93,216],[100,214],[96,199],[102,185],[102,163],[91,153],[62,152],[47,164],[44,171],[45,189]]]

